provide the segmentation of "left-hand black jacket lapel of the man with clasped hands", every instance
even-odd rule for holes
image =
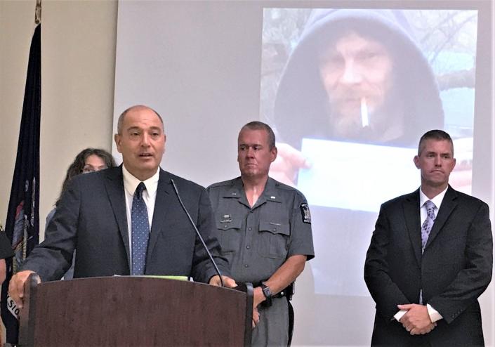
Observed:
[[[419,216],[419,190],[409,194],[402,204],[404,219],[406,221],[409,239],[414,251],[414,256],[421,266],[421,218]]]

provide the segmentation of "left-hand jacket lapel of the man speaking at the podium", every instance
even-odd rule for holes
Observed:
[[[115,220],[119,227],[119,232],[126,247],[127,259],[129,259],[129,232],[127,226],[126,197],[124,192],[124,179],[122,176],[122,166],[115,169],[108,169],[105,179],[105,188],[108,199],[112,204]]]

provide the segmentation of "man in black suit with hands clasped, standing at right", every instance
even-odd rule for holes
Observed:
[[[425,133],[421,188],[381,206],[364,265],[376,302],[372,346],[483,346],[478,296],[491,280],[487,204],[449,186],[448,133]]]

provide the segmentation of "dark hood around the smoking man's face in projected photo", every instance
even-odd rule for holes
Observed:
[[[414,147],[425,131],[442,129],[444,114],[433,71],[402,11],[318,9],[311,13],[279,82],[274,107],[278,140],[300,148],[301,138],[332,138],[317,48],[350,30],[380,41],[394,60],[393,97],[402,104],[406,131],[386,144]]]

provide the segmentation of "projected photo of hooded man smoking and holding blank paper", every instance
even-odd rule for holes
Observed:
[[[368,295],[380,204],[420,184],[418,139],[454,139],[451,185],[470,193],[477,11],[265,8],[261,119],[270,176],[308,198],[317,294]]]

